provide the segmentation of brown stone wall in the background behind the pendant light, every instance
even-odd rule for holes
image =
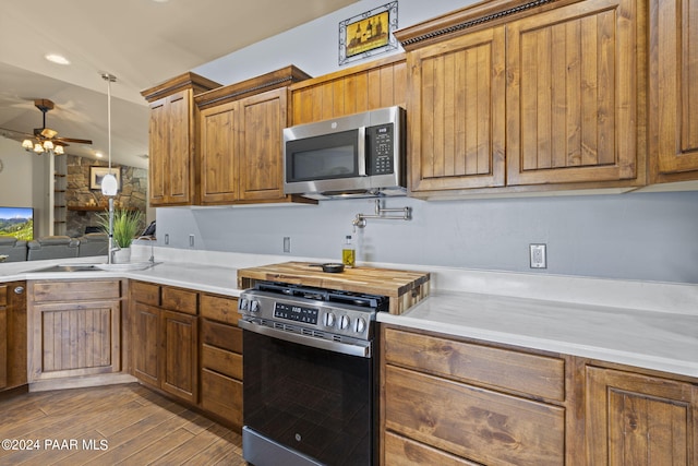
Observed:
[[[65,203],[68,205],[65,235],[79,237],[87,226],[99,226],[98,216],[107,212],[108,198],[100,190],[89,189],[89,167],[107,167],[108,163],[92,158],[67,156],[68,176]],[[115,207],[134,208],[143,213],[143,229],[147,207],[148,171],[125,165],[111,166],[121,174],[121,189],[115,198]],[[83,210],[84,208],[84,210]]]

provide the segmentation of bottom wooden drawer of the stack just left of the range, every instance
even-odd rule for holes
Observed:
[[[242,382],[202,369],[201,406],[236,426],[242,426]]]

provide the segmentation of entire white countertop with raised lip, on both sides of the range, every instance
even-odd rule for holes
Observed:
[[[237,271],[317,258],[156,248],[156,266],[128,272],[36,273],[59,263],[0,264],[0,282],[123,277],[238,297]],[[143,260],[149,249],[142,249]],[[606,360],[698,378],[698,285],[370,264],[431,272],[431,295],[378,322]]]

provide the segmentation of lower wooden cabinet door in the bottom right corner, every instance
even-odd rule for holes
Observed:
[[[589,367],[587,392],[589,464],[698,464],[698,387]]]

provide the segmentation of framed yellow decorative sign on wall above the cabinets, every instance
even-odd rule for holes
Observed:
[[[350,63],[398,48],[397,1],[339,23],[339,64]]]

